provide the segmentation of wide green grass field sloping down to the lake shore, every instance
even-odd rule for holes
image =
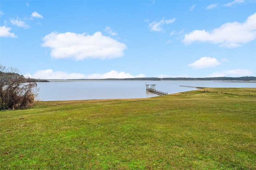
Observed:
[[[1,111],[0,169],[256,169],[256,88]]]

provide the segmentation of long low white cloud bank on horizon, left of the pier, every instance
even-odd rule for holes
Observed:
[[[106,72],[104,74],[80,74],[80,73],[71,73],[68,74],[67,72],[62,71],[53,71],[52,69],[47,70],[39,70],[34,74],[26,74],[25,77],[30,78],[40,78],[40,79],[104,79],[104,78],[136,78],[136,77],[145,77],[144,74],[139,74],[137,76],[132,76],[129,73],[125,72],[118,72],[112,70],[110,72]]]

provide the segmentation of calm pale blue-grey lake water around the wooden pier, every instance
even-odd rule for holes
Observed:
[[[156,84],[156,90],[168,94],[197,90],[195,87],[247,87],[256,88],[256,82],[216,81],[142,81],[142,80],[78,80],[64,82],[39,82],[38,100],[91,100],[130,99],[158,96],[146,91],[146,84]]]

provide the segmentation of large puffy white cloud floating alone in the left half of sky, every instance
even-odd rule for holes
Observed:
[[[56,59],[112,59],[122,57],[123,51],[127,48],[124,43],[103,36],[101,32],[96,32],[94,35],[52,32],[46,35],[43,41],[42,47],[50,47],[51,56]]]

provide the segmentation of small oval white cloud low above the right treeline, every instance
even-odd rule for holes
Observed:
[[[188,66],[190,66],[194,69],[200,69],[200,68],[216,67],[220,64],[221,63],[218,62],[217,59],[215,59],[215,58],[202,57],[199,60],[195,61],[194,63],[188,64]]]

